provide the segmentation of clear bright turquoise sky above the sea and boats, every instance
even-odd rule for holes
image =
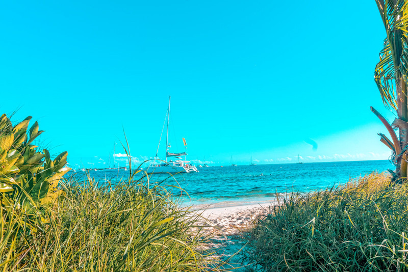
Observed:
[[[171,151],[184,137],[191,160],[387,159],[375,2],[290,3],[3,3],[0,110],[33,116],[76,167],[106,165],[122,127],[135,161],[154,156],[169,95]]]

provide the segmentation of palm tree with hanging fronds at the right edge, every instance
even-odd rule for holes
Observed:
[[[380,141],[393,152],[396,166],[393,181],[403,181],[407,177],[406,154],[408,149],[408,0],[375,0],[384,23],[387,38],[379,53],[379,63],[375,67],[374,79],[381,94],[382,102],[397,113],[392,125],[373,107],[371,111],[387,127],[391,135],[379,133]],[[394,129],[398,129],[399,138]]]

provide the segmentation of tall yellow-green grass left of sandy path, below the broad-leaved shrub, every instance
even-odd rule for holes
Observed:
[[[46,221],[22,228],[18,206],[0,209],[0,271],[217,271],[198,215],[181,211],[160,185],[89,176],[62,184],[65,197],[41,207]],[[194,228],[194,231],[192,231]]]

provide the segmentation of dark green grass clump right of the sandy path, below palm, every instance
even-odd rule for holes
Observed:
[[[372,173],[280,199],[248,234],[258,271],[408,271],[408,185]]]

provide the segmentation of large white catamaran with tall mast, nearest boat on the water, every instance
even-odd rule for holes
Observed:
[[[170,174],[175,174],[175,173],[190,173],[190,172],[198,172],[197,168],[191,164],[191,161],[189,160],[183,160],[181,156],[186,156],[186,152],[182,153],[170,153],[169,152],[169,121],[170,121],[170,96],[169,96],[169,108],[167,111],[167,132],[166,132],[166,159],[165,162],[162,164],[154,164],[150,165],[147,169],[146,172],[147,174],[159,174],[159,173],[170,173]],[[186,141],[183,138],[184,145],[186,146]],[[159,146],[160,146],[160,141],[159,141]],[[157,147],[157,150],[159,150],[159,146]],[[156,157],[157,157],[157,152],[156,151]],[[168,157],[175,157],[176,160],[168,160]]]

